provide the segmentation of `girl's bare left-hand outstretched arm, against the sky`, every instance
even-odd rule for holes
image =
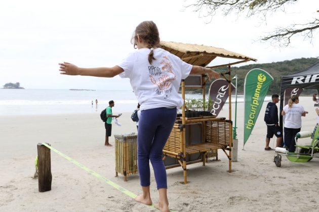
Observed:
[[[93,76],[93,77],[114,77],[118,74],[124,72],[124,70],[119,66],[114,66],[111,68],[79,68],[70,63],[59,63],[60,74],[66,75],[82,75],[82,76]]]

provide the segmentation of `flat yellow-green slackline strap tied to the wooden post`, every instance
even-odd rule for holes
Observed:
[[[117,190],[121,191],[122,193],[125,193],[126,195],[128,195],[131,198],[135,198],[137,195],[132,193],[131,191],[117,185],[116,183],[113,183],[112,181],[110,181],[109,179],[103,177],[102,175],[94,172],[93,170],[89,169],[88,167],[84,166],[83,164],[78,163],[77,161],[74,161],[71,157],[63,154],[62,152],[60,152],[59,150],[53,148],[52,146],[49,146],[47,143],[42,143],[43,145],[45,145],[46,147],[48,147],[49,149],[51,149],[52,151],[56,152],[57,154],[61,155],[62,157],[64,157],[66,160],[68,160],[69,162],[75,164],[77,167],[87,171],[88,173],[90,173],[91,175],[103,180],[104,182],[106,182],[107,184],[109,184],[110,186],[116,188]],[[154,204],[149,205],[151,207],[154,207]],[[154,207],[156,208],[156,207]],[[156,208],[157,209],[157,208]],[[174,211],[174,210],[171,210]]]

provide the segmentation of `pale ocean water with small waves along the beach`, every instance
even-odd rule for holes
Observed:
[[[186,94],[186,98],[202,97]],[[109,100],[115,102],[113,114],[133,112],[138,103],[132,90],[0,89],[0,116],[100,113]],[[237,102],[243,101],[238,95]]]

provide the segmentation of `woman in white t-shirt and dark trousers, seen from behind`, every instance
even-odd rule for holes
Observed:
[[[295,136],[301,130],[301,117],[306,116],[306,112],[299,104],[299,97],[293,95],[289,102],[285,105],[282,116],[285,117],[284,124],[284,142],[288,147],[289,152],[295,152],[296,141]]]

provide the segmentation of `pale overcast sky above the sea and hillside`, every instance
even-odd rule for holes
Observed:
[[[318,0],[303,0],[261,22],[257,17],[216,15],[201,18],[193,1],[3,1],[0,7],[0,87],[20,82],[25,88],[130,90],[129,81],[115,78],[65,76],[59,62],[81,67],[109,67],[134,51],[135,27],[152,20],[161,40],[225,48],[271,63],[319,57],[319,33],[312,43],[297,37],[292,46],[273,47],[258,38],[276,26],[319,18]],[[228,60],[228,59],[227,59]],[[220,62],[220,61],[219,61]],[[254,62],[246,63],[251,64]],[[211,65],[218,65],[213,61]],[[245,64],[242,64],[245,65]]]

